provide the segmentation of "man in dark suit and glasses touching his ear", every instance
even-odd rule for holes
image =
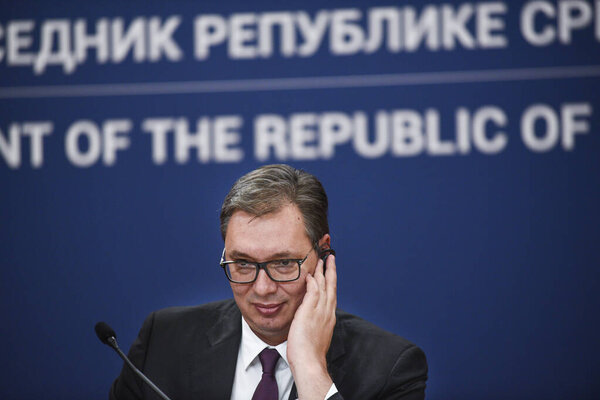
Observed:
[[[336,310],[327,195],[269,165],[225,197],[221,267],[234,300],[152,313],[129,351],[172,400],[423,399],[425,355]],[[110,399],[155,399],[124,366]]]

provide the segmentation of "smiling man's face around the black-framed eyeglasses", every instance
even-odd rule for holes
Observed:
[[[311,248],[302,214],[295,205],[261,217],[236,211],[225,235],[227,260],[303,259]],[[306,275],[314,273],[316,265],[317,254],[310,251],[296,281],[274,282],[260,270],[252,283],[230,283],[244,319],[264,342],[277,345],[287,339],[294,314],[306,292]]]

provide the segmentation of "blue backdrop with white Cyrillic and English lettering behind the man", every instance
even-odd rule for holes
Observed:
[[[286,162],[428,398],[596,398],[599,100],[592,1],[2,1],[0,397],[106,398],[96,321],[230,297],[221,201]]]

